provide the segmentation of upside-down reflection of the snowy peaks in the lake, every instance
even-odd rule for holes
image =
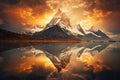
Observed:
[[[43,51],[58,71],[60,71],[69,63],[71,56],[80,57],[85,52],[94,55],[94,51],[101,52],[108,45],[109,43],[54,43],[40,44],[33,47],[36,50]]]

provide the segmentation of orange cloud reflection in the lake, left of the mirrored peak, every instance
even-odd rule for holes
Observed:
[[[14,66],[14,67],[13,67]],[[19,61],[12,61],[10,65],[6,66],[4,69],[6,71],[16,72],[16,73],[31,73],[34,70],[34,67],[42,68],[43,70],[55,70],[56,68],[51,63],[51,61],[45,56],[41,55],[38,57],[35,56],[23,56]]]

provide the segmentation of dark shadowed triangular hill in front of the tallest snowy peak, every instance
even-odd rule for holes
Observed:
[[[72,36],[67,35],[65,30],[61,29],[59,25],[54,25],[49,29],[36,32],[33,36],[42,38],[72,38]]]

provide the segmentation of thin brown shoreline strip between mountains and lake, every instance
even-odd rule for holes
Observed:
[[[78,40],[78,39],[40,39],[40,40],[0,40],[0,43],[81,43],[81,42],[119,42],[109,40]]]

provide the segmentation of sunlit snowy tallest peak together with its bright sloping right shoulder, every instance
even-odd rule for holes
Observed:
[[[53,19],[47,24],[45,29],[49,29],[53,27],[54,25],[59,25],[61,29],[65,30],[68,35],[81,35],[84,34],[79,31],[78,27],[71,26],[70,25],[70,19],[67,17],[67,15],[59,9],[58,12],[55,14]]]

